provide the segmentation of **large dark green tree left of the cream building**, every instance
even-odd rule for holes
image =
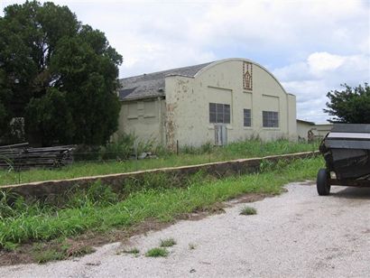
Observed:
[[[26,2],[0,17],[0,132],[24,117],[41,144],[105,144],[116,131],[122,56],[67,6]]]

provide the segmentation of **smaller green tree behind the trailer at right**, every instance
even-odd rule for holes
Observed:
[[[324,112],[334,116],[331,123],[370,124],[370,87],[367,83],[351,88],[347,84],[341,85],[341,91],[329,91],[327,97],[328,109]]]

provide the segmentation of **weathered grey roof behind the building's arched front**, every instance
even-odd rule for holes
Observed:
[[[199,70],[212,62],[172,70],[147,73],[126,79],[120,79],[121,89],[118,92],[121,101],[148,97],[164,96],[164,79],[171,75],[194,77]]]

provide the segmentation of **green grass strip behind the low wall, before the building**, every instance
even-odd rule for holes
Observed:
[[[206,144],[200,148],[183,147],[180,155],[163,153],[160,155],[159,159],[140,160],[137,162],[74,162],[69,166],[54,170],[45,169],[22,172],[0,170],[0,186],[19,182],[63,180],[109,173],[176,167],[316,150],[318,150],[318,144],[293,143],[287,140],[278,140],[268,143],[262,143],[259,140],[247,140],[228,144],[226,147],[213,147],[210,144]]]

